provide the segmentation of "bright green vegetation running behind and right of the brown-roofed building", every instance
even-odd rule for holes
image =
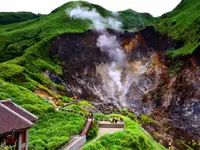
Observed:
[[[39,117],[30,130],[30,149],[56,150],[78,134],[84,126],[80,115],[55,111],[50,103],[23,86],[0,80],[0,99],[11,98],[15,103]]]

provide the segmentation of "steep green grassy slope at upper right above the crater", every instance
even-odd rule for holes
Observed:
[[[161,33],[184,42],[184,47],[168,51],[173,57],[192,54],[200,45],[200,0],[182,0],[172,12],[159,19],[155,27]]]

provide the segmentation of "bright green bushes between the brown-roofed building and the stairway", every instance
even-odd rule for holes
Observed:
[[[49,112],[42,114],[39,121],[30,129],[31,150],[57,150],[78,134],[84,118],[77,114],[64,112]]]

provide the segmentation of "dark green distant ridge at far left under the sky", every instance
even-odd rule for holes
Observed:
[[[0,12],[0,25],[23,22],[38,17],[39,15],[31,12]]]

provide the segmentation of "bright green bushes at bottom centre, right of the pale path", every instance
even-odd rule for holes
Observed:
[[[156,143],[137,122],[122,115],[108,115],[107,117],[123,118],[126,129],[113,134],[102,136],[99,140],[84,146],[84,150],[164,150],[165,148]]]

